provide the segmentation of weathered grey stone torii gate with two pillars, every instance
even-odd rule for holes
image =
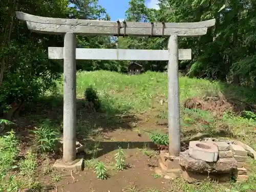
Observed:
[[[191,59],[190,49],[178,49],[178,36],[205,35],[215,19],[197,23],[136,23],[51,18],[16,12],[28,29],[37,33],[65,35],[64,47],[49,47],[50,59],[64,59],[63,163],[76,159],[76,59],[168,61],[169,154],[180,153],[180,107],[178,60]],[[76,35],[169,36],[168,50],[78,49]]]

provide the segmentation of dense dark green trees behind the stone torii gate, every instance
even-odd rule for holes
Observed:
[[[25,3],[26,2],[26,3]],[[72,6],[69,6],[72,5]],[[145,0],[131,0],[127,21],[198,22],[216,18],[216,26],[200,38],[180,38],[180,48],[191,48],[193,59],[180,69],[194,77],[220,79],[241,86],[256,86],[256,1],[159,0],[159,9]],[[254,10],[255,9],[255,10]],[[24,102],[54,88],[62,72],[61,61],[48,59],[49,46],[63,46],[63,37],[32,33],[15,11],[62,18],[110,20],[97,0],[2,0],[0,6],[0,103],[1,111],[18,113]],[[77,36],[78,47],[166,49],[167,38]],[[78,70],[125,72],[129,61],[77,61]],[[164,71],[164,61],[141,61],[145,70]]]

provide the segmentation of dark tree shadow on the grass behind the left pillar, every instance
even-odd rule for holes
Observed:
[[[129,114],[129,106],[118,106],[114,101],[101,100],[101,112],[94,112],[87,108],[85,99],[77,99],[77,137],[84,139],[93,130],[112,132],[117,129],[131,130],[132,124],[139,119]],[[62,132],[63,122],[63,96],[56,95],[40,98],[33,103],[28,103],[20,118],[16,119],[20,126],[39,126],[46,119],[52,126]]]

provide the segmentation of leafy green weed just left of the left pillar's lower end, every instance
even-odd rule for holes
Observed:
[[[40,152],[49,153],[55,151],[56,143],[60,138],[58,137],[58,132],[50,126],[49,120],[42,123],[37,130],[32,132],[36,136],[36,143]]]

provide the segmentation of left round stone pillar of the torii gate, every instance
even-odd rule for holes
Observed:
[[[63,48],[63,162],[76,159],[76,35],[66,33]]]

